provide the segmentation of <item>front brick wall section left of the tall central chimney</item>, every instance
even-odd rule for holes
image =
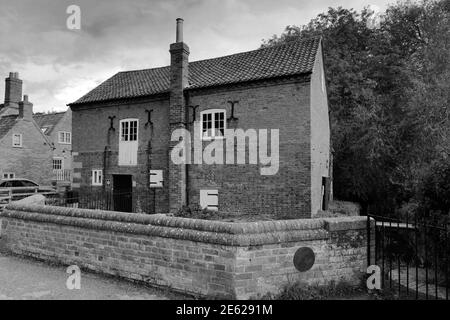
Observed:
[[[153,138],[152,154],[149,162],[148,143],[152,129],[148,121],[146,110],[153,110]],[[92,186],[91,171],[93,169],[104,170],[105,147],[110,147],[108,153],[104,178],[111,180],[114,174],[131,174],[135,182],[136,191],[147,190],[149,181],[149,169],[163,170],[163,177],[168,176],[168,99],[146,99],[140,101],[128,101],[121,104],[102,105],[102,107],[87,110],[73,110],[72,131],[74,151],[74,188],[82,190],[100,191],[102,187]],[[115,116],[114,131],[109,130],[110,119]],[[119,121],[126,118],[139,119],[139,148],[137,166],[119,166]],[[110,188],[109,187],[109,188]],[[108,187],[105,186],[106,189]],[[155,189],[156,190],[156,189]],[[168,185],[157,189],[156,211],[168,212]]]

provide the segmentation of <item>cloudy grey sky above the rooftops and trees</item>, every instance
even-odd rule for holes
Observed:
[[[19,72],[35,112],[65,110],[118,71],[169,64],[175,19],[190,60],[256,49],[328,7],[384,10],[392,0],[0,0],[0,78]],[[81,30],[69,30],[69,5]],[[0,81],[0,101],[4,80]]]

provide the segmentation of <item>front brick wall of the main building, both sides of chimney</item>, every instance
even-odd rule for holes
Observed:
[[[280,168],[274,176],[262,176],[258,165],[189,165],[187,174],[188,200],[199,204],[201,189],[218,189],[219,210],[233,214],[274,214],[294,217],[311,216],[311,158],[310,158],[310,86],[305,79],[290,82],[265,82],[261,84],[203,90],[189,93],[189,104],[205,109],[223,109],[231,115],[229,100],[237,100],[235,117],[229,128],[279,129]],[[157,212],[169,211],[169,114],[168,98],[162,100],[127,101],[118,104],[97,105],[95,108],[73,110],[74,182],[84,189],[91,187],[91,170],[102,169],[103,153],[108,145],[109,116],[116,116],[116,131],[109,134],[111,152],[106,179],[112,174],[132,174],[136,188],[146,188],[148,183],[147,144],[149,129],[145,127],[145,110],[153,109],[154,141],[152,168],[162,169],[164,188],[158,189]],[[119,120],[138,118],[138,166],[117,166]],[[188,121],[192,120],[192,111]],[[192,125],[190,125],[192,127]],[[193,132],[192,132],[193,134]],[[206,142],[204,146],[206,146]],[[78,181],[77,181],[78,179]],[[112,180],[111,180],[112,181]],[[76,186],[76,184],[75,184]]]

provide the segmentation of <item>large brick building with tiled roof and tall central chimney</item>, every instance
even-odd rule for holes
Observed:
[[[133,191],[133,203],[144,191],[155,212],[201,205],[228,215],[314,216],[330,194],[321,39],[189,62],[181,19],[176,38],[170,66],[119,72],[70,104],[74,187]],[[264,166],[251,161],[174,163],[174,130],[195,138],[196,126],[202,151],[225,143],[224,129],[278,129],[277,173],[262,175]]]

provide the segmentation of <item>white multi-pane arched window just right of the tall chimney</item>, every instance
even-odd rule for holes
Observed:
[[[203,140],[223,139],[227,128],[224,109],[210,109],[200,113],[201,138]]]

